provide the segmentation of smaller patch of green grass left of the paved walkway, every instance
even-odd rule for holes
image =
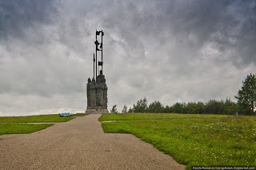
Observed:
[[[29,117],[0,117],[0,135],[37,132],[54,124],[35,125],[29,123],[66,122],[74,119],[74,117],[85,115],[86,114],[74,114],[73,117],[60,117],[58,114],[54,114]]]

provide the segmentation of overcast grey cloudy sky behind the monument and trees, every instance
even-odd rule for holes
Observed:
[[[86,110],[95,30],[108,109],[234,96],[256,69],[256,1],[1,0],[0,116]]]

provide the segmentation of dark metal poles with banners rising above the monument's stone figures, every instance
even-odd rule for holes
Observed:
[[[97,36],[99,36],[99,35],[102,35],[102,42],[101,43],[99,43],[98,40],[97,40]],[[102,30],[101,31],[96,30],[96,36],[95,36],[96,41],[94,42],[94,44],[96,45],[95,46],[96,47],[95,48],[96,62],[95,62],[95,56],[94,56],[94,74],[95,74],[95,71],[96,71],[96,77],[98,76],[97,69],[98,69],[98,72],[99,72],[99,66],[102,66],[102,73],[103,73],[103,36],[104,36],[104,32]],[[102,52],[102,61],[98,61],[98,58],[97,58],[97,52],[98,51]],[[97,62],[98,62],[98,65],[97,65]],[[98,66],[98,68],[97,68],[97,66]]]

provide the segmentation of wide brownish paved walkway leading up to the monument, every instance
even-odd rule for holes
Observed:
[[[104,133],[100,116],[0,136],[0,169],[185,169],[133,135]]]

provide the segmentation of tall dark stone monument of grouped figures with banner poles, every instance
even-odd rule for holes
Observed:
[[[95,48],[95,55],[94,55],[94,76],[92,80],[90,77],[88,78],[88,82],[86,85],[86,93],[87,93],[87,109],[86,113],[92,114],[106,114],[109,113],[107,110],[107,86],[106,86],[106,78],[103,75],[103,41],[98,42],[97,36],[102,37],[104,32],[96,30],[96,41],[94,44],[96,45]],[[97,53],[102,52],[102,60],[98,61]],[[95,59],[96,57],[96,59]],[[98,64],[97,64],[98,63]],[[101,67],[100,67],[101,66]],[[97,70],[99,70],[99,74],[97,74]]]

